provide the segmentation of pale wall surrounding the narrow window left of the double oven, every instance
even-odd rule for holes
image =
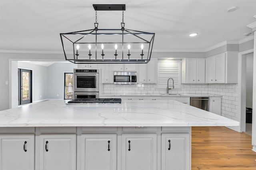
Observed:
[[[64,72],[73,72],[74,68],[77,68],[77,64],[54,63],[48,66],[49,99],[64,99]]]

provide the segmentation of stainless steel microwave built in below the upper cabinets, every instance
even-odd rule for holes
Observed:
[[[114,84],[137,84],[137,72],[114,72]]]

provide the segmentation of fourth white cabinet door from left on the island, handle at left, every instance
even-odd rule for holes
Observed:
[[[156,170],[156,134],[122,134],[122,170]]]

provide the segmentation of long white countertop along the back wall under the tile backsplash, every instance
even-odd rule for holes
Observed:
[[[109,94],[104,93],[100,94],[100,96],[159,96],[159,97],[221,97],[220,95],[216,94],[179,94],[179,95],[166,95],[166,94],[147,94],[147,93],[116,93],[116,94]]]

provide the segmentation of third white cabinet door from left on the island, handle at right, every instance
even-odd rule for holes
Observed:
[[[80,170],[116,170],[116,134],[81,135]]]

